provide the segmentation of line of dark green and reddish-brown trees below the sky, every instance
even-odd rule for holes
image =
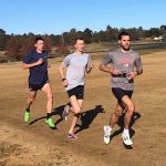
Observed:
[[[144,30],[139,28],[131,29],[117,29],[107,25],[105,30],[92,31],[86,28],[84,31],[77,31],[76,29],[71,29],[69,32],[63,32],[62,34],[44,34],[41,35],[45,40],[45,49],[51,51],[53,46],[56,48],[59,53],[68,53],[68,45],[71,45],[75,38],[82,37],[85,43],[98,43],[98,42],[116,42],[117,35],[121,31],[127,31],[132,34],[132,40],[144,40],[146,38],[163,37],[163,41],[166,41],[166,25],[163,24],[159,28],[151,28]],[[6,55],[10,61],[21,60],[29,50],[34,46],[34,39],[40,34],[34,34],[32,32],[24,34],[7,34],[3,29],[0,29],[0,51],[6,51]]]

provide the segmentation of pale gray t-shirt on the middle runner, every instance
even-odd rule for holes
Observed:
[[[91,58],[89,54],[69,54],[62,62],[62,66],[66,66],[66,91],[72,90],[79,85],[85,84],[85,71],[91,64]]]

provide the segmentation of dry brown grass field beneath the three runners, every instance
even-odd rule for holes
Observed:
[[[0,64],[0,166],[166,166],[166,52],[142,56],[144,74],[135,80],[133,100],[136,111],[132,123],[133,148],[123,145],[123,122],[114,128],[111,144],[103,143],[103,125],[108,124],[116,100],[110,90],[110,75],[95,69],[86,77],[77,139],[66,137],[72,114],[62,121],[68,96],[61,85],[58,66],[49,70],[54,95],[53,121],[44,123],[46,96],[39,92],[30,124],[23,123],[28,95],[28,71],[21,63]]]

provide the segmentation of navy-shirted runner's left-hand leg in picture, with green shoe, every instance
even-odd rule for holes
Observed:
[[[33,101],[35,100],[35,96],[37,96],[37,91],[29,92],[29,96],[27,100],[27,106],[25,106],[25,111],[24,111],[24,122],[30,121],[30,107],[31,107],[31,104],[33,103]]]

